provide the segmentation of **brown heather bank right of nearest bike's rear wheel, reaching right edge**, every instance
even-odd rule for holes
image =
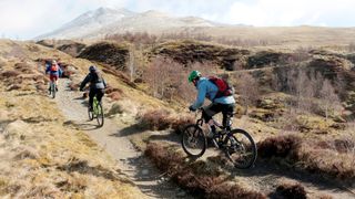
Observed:
[[[258,143],[260,157],[276,157],[282,163],[339,180],[355,178],[354,138],[304,138],[295,135],[275,136]],[[290,164],[286,164],[290,165]]]

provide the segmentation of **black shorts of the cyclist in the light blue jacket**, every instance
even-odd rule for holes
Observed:
[[[209,121],[212,119],[212,117],[222,112],[223,115],[223,122],[222,125],[224,127],[227,126],[227,117],[232,117],[234,113],[235,104],[210,104],[209,106],[203,107],[203,118],[205,123],[209,123]]]

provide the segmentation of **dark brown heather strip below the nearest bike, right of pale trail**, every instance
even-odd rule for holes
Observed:
[[[145,155],[159,169],[166,172],[179,186],[189,190],[195,197],[203,198],[266,198],[258,191],[229,184],[217,167],[205,161],[185,161],[181,151],[174,147],[151,143]]]

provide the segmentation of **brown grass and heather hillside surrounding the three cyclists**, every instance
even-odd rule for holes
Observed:
[[[65,49],[1,41],[2,196],[354,197],[352,52],[178,40],[141,49],[129,42],[77,44],[85,48],[74,50],[74,57]],[[53,57],[69,76],[55,100],[47,96],[42,73],[42,61]],[[109,83],[102,128],[87,121],[87,100],[77,91],[91,64]],[[237,170],[212,147],[196,160],[182,151],[179,133],[195,121],[186,113],[195,95],[186,81],[192,69],[229,74],[239,102],[234,126],[257,142],[254,168]],[[19,170],[23,179],[8,178]]]

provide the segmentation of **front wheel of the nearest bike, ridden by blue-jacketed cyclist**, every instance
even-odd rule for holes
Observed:
[[[206,150],[207,140],[197,125],[189,125],[182,133],[181,145],[189,156],[197,158]]]

